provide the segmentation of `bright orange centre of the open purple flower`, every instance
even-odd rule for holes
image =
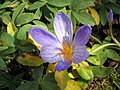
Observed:
[[[69,47],[67,44],[63,44],[62,46],[63,50],[61,50],[60,55],[63,54],[67,62],[74,60],[74,58],[72,58],[72,54],[74,52],[73,48]]]

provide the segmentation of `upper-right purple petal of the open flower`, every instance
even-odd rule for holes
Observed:
[[[79,46],[79,45],[87,44],[91,35],[91,31],[92,31],[92,28],[90,27],[90,25],[87,24],[87,25],[81,26],[75,34],[74,45]]]

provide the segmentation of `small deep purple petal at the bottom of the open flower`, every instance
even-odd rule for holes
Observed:
[[[61,60],[60,62],[58,62],[55,68],[58,72],[60,72],[62,70],[69,68],[71,64],[72,62],[66,62],[65,60]]]

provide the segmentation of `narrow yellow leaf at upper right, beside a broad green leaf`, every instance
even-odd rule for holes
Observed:
[[[89,9],[92,17],[94,18],[96,25],[99,25],[100,17],[99,17],[99,14],[97,13],[97,11],[94,8],[91,8],[91,7],[89,7],[88,9]]]

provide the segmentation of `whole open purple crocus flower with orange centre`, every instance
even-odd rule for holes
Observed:
[[[49,63],[58,62],[55,66],[57,71],[69,68],[72,62],[78,64],[89,56],[85,48],[92,28],[90,25],[81,26],[73,39],[73,25],[70,18],[63,12],[58,12],[54,18],[54,30],[56,36],[49,31],[32,27],[29,34],[42,45],[40,56]]]

